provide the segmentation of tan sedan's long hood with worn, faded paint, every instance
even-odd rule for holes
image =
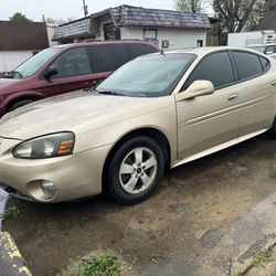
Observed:
[[[77,134],[152,112],[157,98],[98,95],[74,92],[21,107],[0,120],[0,137],[30,139],[44,134]],[[158,105],[153,105],[158,109]]]

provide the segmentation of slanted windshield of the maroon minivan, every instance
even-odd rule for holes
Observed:
[[[49,47],[40,53],[35,54],[20,66],[18,66],[14,72],[14,77],[25,78],[28,76],[33,75],[38,72],[46,62],[49,62],[60,49],[57,47]]]

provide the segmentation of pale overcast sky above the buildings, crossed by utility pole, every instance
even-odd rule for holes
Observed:
[[[89,13],[120,4],[144,8],[174,9],[174,0],[86,0]],[[0,0],[0,20],[8,20],[14,12],[22,12],[33,21],[45,18],[78,19],[84,15],[83,0]]]

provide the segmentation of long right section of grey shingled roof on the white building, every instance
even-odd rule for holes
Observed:
[[[210,29],[206,14],[119,6],[109,9],[115,25]]]

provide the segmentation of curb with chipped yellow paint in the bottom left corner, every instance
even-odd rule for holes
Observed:
[[[15,242],[8,232],[0,232],[0,275],[32,276]]]

